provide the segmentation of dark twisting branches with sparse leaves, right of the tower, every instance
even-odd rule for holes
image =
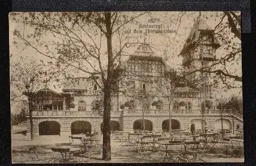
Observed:
[[[212,81],[210,81],[210,85],[214,88],[220,88],[220,85],[226,89],[241,88],[241,13],[216,12],[212,13],[212,15],[200,13],[199,16],[201,21],[215,18],[212,35],[214,41],[220,43],[221,47],[217,49],[213,61],[202,63],[200,69],[185,73],[185,76],[203,72],[204,77],[207,77],[210,73],[214,73]],[[196,42],[192,49],[196,47],[202,48],[202,44],[206,41],[204,39],[206,35],[195,39]],[[192,49],[189,50],[191,54],[193,54]],[[202,79],[201,76],[194,77],[191,84],[198,85],[198,82]]]

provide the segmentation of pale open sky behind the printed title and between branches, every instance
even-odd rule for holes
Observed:
[[[132,15],[138,15],[141,14],[141,12],[125,12],[123,14],[132,16]],[[125,31],[125,35],[129,36],[131,38],[130,42],[143,42],[145,40],[146,43],[150,44],[152,47],[152,51],[154,51],[156,56],[162,56],[166,58],[166,62],[168,65],[170,65],[172,68],[180,69],[181,68],[181,61],[182,58],[179,55],[181,49],[183,48],[183,44],[185,43],[185,40],[188,38],[189,32],[191,31],[191,28],[193,26],[194,20],[199,16],[199,12],[186,12],[183,14],[181,19],[179,18],[180,15],[183,13],[179,12],[151,12],[150,15],[144,14],[140,16],[139,18],[135,19],[133,23],[128,23],[123,28],[123,31]],[[220,20],[218,17],[214,17],[212,15],[221,14],[220,12],[201,12],[202,18],[205,20],[205,22],[210,26],[214,27]],[[24,13],[26,16],[26,13]],[[19,16],[22,16],[22,14],[19,14]],[[205,19],[205,16],[207,19]],[[15,16],[18,19],[18,16]],[[11,16],[10,16],[11,18]],[[152,23],[152,19],[154,20],[154,23]],[[20,19],[22,20],[22,19]],[[161,30],[170,30],[172,32],[166,33],[166,34],[148,34],[146,33],[146,30],[156,30],[156,28],[141,28],[141,26],[146,27],[147,25],[157,25],[161,26]],[[141,25],[141,26],[140,26]],[[45,63],[47,61],[51,61],[48,59],[48,57],[44,57],[40,55],[35,49],[31,47],[26,47],[24,45],[24,42],[21,40],[17,40],[13,36],[13,31],[15,29],[18,29],[19,31],[23,31],[24,28],[24,36],[30,34],[33,29],[26,25],[26,28],[23,27],[23,22],[14,22],[10,19],[10,54],[12,55],[10,57],[10,63],[12,61],[16,61],[19,56],[25,56],[27,59],[36,59],[38,61],[43,60]],[[139,30],[142,30],[142,34],[137,33]],[[176,31],[176,33],[175,33]],[[86,37],[83,36],[83,38],[86,39]],[[56,41],[58,39],[54,38],[51,35],[46,35],[40,40],[46,42]],[[87,38],[86,40],[89,41]],[[18,42],[18,44],[13,44],[13,42]],[[99,41],[97,41],[99,42]],[[105,42],[105,39],[102,40],[102,42]],[[102,50],[106,50],[105,47],[106,44],[102,44]],[[113,49],[118,48],[118,40],[117,36],[113,36]],[[42,52],[46,52],[46,49],[44,47],[38,46],[38,49],[40,49]],[[125,51],[129,52],[130,54],[133,54],[133,52],[137,49],[137,47],[130,47],[125,49]],[[102,51],[104,53],[104,51]],[[216,52],[218,55],[225,55],[227,52],[224,49],[219,49]],[[127,59],[127,56],[123,56],[123,61]],[[102,61],[106,62],[106,56],[102,56]],[[237,69],[238,74],[242,74],[241,71],[241,63],[234,65],[232,68]],[[57,92],[61,92],[61,88],[53,88],[53,85],[56,84],[56,82],[51,82],[49,85],[49,88],[56,90]],[[222,89],[216,90],[216,95],[220,97],[221,95],[225,94],[225,97],[232,96],[233,94],[239,94],[241,93],[241,89],[231,89],[228,90],[228,92],[223,92]],[[227,95],[228,94],[228,95]],[[239,94],[241,95],[241,94]]]

